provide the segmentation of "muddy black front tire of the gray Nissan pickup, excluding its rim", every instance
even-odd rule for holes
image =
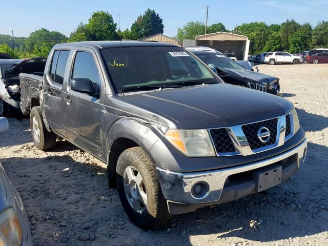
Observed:
[[[128,167],[135,168],[142,177],[147,194],[147,206],[142,212],[136,212],[124,189],[124,175]],[[139,174],[138,173],[138,174]],[[117,160],[116,182],[118,195],[122,206],[130,220],[138,227],[149,230],[156,229],[162,224],[166,224],[172,217],[170,215],[166,199],[164,198],[155,166],[152,165],[148,155],[140,148],[133,147],[121,153]]]

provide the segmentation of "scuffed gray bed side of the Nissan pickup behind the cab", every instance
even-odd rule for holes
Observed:
[[[31,104],[39,105],[40,86],[43,84],[43,76],[30,73],[19,74],[20,84],[20,109],[23,114],[29,114]]]

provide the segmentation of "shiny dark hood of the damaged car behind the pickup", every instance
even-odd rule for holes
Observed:
[[[244,82],[257,82],[259,84],[263,83],[272,83],[277,81],[279,78],[270,76],[264,73],[258,73],[251,70],[236,70],[236,69],[228,69],[228,68],[219,68],[223,72],[229,74],[230,77],[244,81]]]

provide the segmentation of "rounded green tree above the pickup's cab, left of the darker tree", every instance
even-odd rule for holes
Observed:
[[[97,11],[85,25],[85,34],[88,40],[115,40],[116,26],[110,13]]]

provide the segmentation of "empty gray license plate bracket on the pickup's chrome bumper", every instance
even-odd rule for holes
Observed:
[[[282,167],[271,165],[253,171],[253,178],[256,181],[256,192],[267,190],[281,183]]]

